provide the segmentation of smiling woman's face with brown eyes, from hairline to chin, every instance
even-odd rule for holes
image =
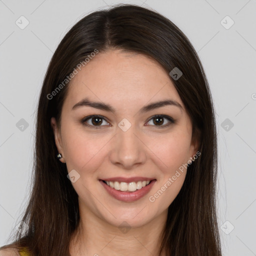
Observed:
[[[61,128],[54,117],[51,125],[80,210],[131,227],[166,214],[183,184],[184,164],[197,150],[168,73],[147,56],[109,50],[92,58],[68,86]],[[167,100],[176,104],[146,107]],[[147,180],[153,181],[145,185]]]

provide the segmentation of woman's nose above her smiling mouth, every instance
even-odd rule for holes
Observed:
[[[134,165],[143,164],[146,160],[146,146],[139,132],[133,125],[123,131],[117,128],[110,161],[115,165],[122,165],[123,169],[132,169]]]

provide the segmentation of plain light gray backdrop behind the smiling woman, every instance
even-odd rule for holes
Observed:
[[[34,111],[52,53],[76,21],[116,3],[155,9],[195,47],[216,110],[223,255],[256,255],[256,0],[0,0],[0,246],[30,192]]]

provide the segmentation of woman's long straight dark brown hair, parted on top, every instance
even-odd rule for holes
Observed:
[[[69,255],[70,237],[79,222],[77,193],[66,176],[66,165],[56,158],[50,126],[52,116],[60,124],[68,83],[50,99],[49,94],[95,49],[99,54],[108,49],[145,54],[168,73],[174,67],[182,71],[179,79],[170,79],[191,118],[201,154],[189,165],[181,190],[168,207],[160,253],[221,255],[215,208],[215,116],[202,64],[175,24],[153,10],[130,4],[83,17],[66,33],[51,58],[37,107],[33,186],[22,217],[27,226],[11,236],[11,245],[27,246],[31,255]]]

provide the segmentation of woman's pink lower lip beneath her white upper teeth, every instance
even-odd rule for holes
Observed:
[[[133,192],[124,192],[121,190],[116,190],[110,186],[108,186],[106,183],[103,182],[103,180],[99,180],[99,182],[104,186],[106,191],[112,195],[115,199],[124,201],[124,202],[133,202],[141,197],[143,197],[145,194],[149,192],[153,184],[156,182],[156,179],[152,180],[148,185],[143,186],[141,189],[137,189]]]

